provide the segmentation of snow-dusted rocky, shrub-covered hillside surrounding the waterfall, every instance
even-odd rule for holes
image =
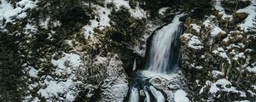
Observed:
[[[183,12],[181,67],[148,82],[167,101],[256,101],[255,4],[1,0],[0,101],[124,101],[150,34]]]

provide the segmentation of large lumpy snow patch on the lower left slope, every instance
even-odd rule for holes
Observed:
[[[76,79],[76,70],[82,65],[82,62],[79,54],[64,54],[65,56],[61,59],[51,60],[51,63],[57,67],[53,73],[59,77],[44,75],[44,80],[30,84],[29,88],[42,86],[38,89],[37,94],[46,99],[54,99],[63,94],[60,99],[73,101],[78,95],[76,85],[79,82],[74,81]]]

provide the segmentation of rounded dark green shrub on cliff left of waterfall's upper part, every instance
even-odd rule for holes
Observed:
[[[134,44],[136,38],[141,37],[146,29],[145,20],[131,17],[129,10],[125,7],[120,7],[118,11],[113,10],[109,18],[113,29],[109,30],[107,35],[114,42]]]

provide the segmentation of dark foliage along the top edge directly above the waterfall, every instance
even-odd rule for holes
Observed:
[[[184,12],[190,12],[193,9],[193,15],[201,17],[211,10],[212,0],[140,0],[140,5],[149,10],[153,18],[157,17],[158,10],[163,7],[170,7],[172,11]]]

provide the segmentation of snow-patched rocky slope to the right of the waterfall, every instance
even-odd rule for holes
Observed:
[[[224,15],[185,22],[181,51],[189,95],[194,101],[255,101],[255,62],[248,46],[254,36],[237,27],[247,14],[226,14],[223,20]]]

